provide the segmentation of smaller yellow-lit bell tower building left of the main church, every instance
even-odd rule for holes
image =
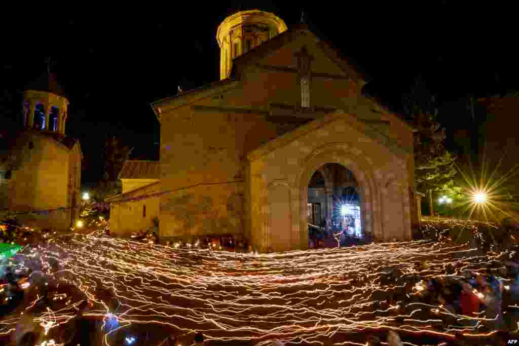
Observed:
[[[20,127],[0,133],[0,211],[65,230],[78,218],[81,147],[65,135],[69,100],[50,71],[23,92]]]

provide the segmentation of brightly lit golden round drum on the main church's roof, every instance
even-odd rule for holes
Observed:
[[[239,11],[225,18],[216,32],[220,45],[220,79],[229,76],[234,58],[284,31],[285,22],[270,12]]]

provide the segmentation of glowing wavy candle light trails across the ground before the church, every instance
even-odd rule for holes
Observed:
[[[92,308],[85,316],[103,321],[107,345],[132,324],[160,325],[190,335],[200,331],[209,344],[250,341],[263,346],[276,339],[364,344],[359,332],[390,329],[411,345],[419,345],[425,334],[454,338],[454,333],[475,329],[449,325],[449,317],[486,320],[422,303],[424,280],[461,278],[465,270],[488,272],[494,261],[511,255],[481,256],[466,244],[430,241],[240,254],[182,248],[178,243],[145,244],[107,237],[102,231],[50,238],[18,255],[24,266],[36,269],[31,287],[41,270],[57,285],[74,285],[83,295],[57,292],[34,321],[50,334],[89,301]],[[446,273],[448,265],[455,267],[454,273]],[[36,305],[31,301],[27,309]],[[17,316],[6,316],[0,321],[0,335],[12,333],[17,322]]]

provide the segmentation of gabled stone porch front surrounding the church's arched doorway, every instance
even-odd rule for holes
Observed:
[[[261,251],[276,247],[280,238],[277,232],[292,233],[293,249],[308,246],[308,182],[317,169],[332,162],[343,164],[358,181],[366,238],[411,239],[405,155],[392,153],[351,126],[351,116],[337,115],[333,121],[326,122],[324,118],[320,121],[295,131],[279,146],[273,144],[252,154],[253,246]],[[289,187],[291,193],[291,215],[287,218],[293,222],[287,230],[269,224],[269,210],[275,206],[269,205],[272,203],[269,186],[281,183]]]

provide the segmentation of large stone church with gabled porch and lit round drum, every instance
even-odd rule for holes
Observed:
[[[306,249],[309,224],[348,214],[358,237],[410,240],[413,128],[361,94],[362,75],[307,26],[266,11],[227,17],[216,40],[221,80],[152,104],[159,167],[132,196],[153,197],[160,238],[234,234],[260,252]]]

